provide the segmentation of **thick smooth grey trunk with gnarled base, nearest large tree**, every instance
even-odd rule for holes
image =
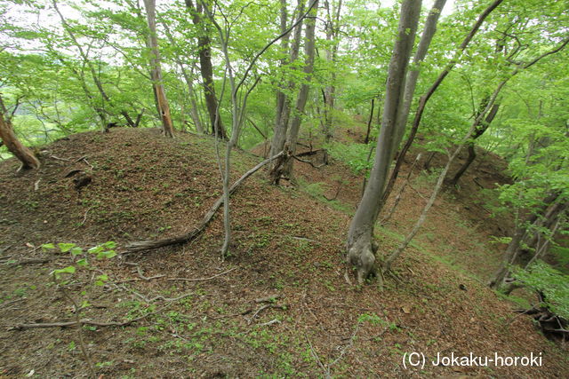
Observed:
[[[421,1],[405,0],[401,5],[397,39],[389,61],[388,83],[381,132],[375,150],[375,161],[356,215],[349,225],[348,260],[357,269],[359,283],[363,283],[371,273],[375,272],[375,251],[377,249],[373,245],[373,228],[383,206],[381,197],[388,178],[391,157],[397,147],[394,144],[396,120],[399,112],[402,111],[405,75],[413,49],[420,11]]]

